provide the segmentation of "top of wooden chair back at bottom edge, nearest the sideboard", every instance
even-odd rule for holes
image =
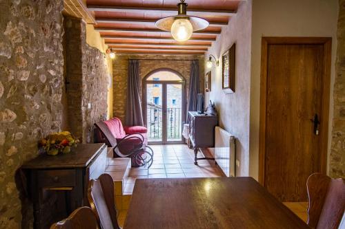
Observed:
[[[50,229],[97,229],[95,213],[89,207],[77,208],[63,221],[54,223]]]

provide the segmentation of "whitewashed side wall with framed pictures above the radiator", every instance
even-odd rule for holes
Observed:
[[[237,176],[249,175],[249,105],[250,105],[250,32],[252,1],[242,1],[237,14],[222,29],[206,54],[219,58],[219,67],[212,69],[212,89],[206,93],[206,104],[215,102],[220,127],[237,137],[236,157],[240,162]],[[221,88],[221,55],[236,43],[235,93],[224,94]],[[209,69],[206,69],[208,72]]]

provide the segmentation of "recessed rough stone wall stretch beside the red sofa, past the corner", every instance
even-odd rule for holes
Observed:
[[[86,43],[86,24],[66,18],[68,123],[82,142],[92,142],[93,124],[107,116],[108,62]]]

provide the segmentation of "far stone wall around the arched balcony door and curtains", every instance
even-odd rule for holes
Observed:
[[[126,116],[126,99],[127,99],[127,80],[128,80],[128,60],[140,59],[139,76],[142,79],[155,69],[172,69],[179,72],[186,79],[186,95],[188,98],[188,88],[190,79],[190,68],[193,59],[199,60],[199,80],[200,93],[204,91],[204,55],[199,56],[168,56],[168,55],[126,55],[119,54],[112,61],[113,76],[113,114],[119,117],[122,122]],[[187,60],[187,61],[183,61]],[[142,89],[142,86],[140,86]],[[140,94],[141,95],[141,94]],[[141,99],[142,100],[142,99]]]

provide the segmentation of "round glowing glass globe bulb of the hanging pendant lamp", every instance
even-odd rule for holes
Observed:
[[[171,35],[176,41],[188,41],[192,34],[193,26],[188,19],[177,19],[171,25]]]

